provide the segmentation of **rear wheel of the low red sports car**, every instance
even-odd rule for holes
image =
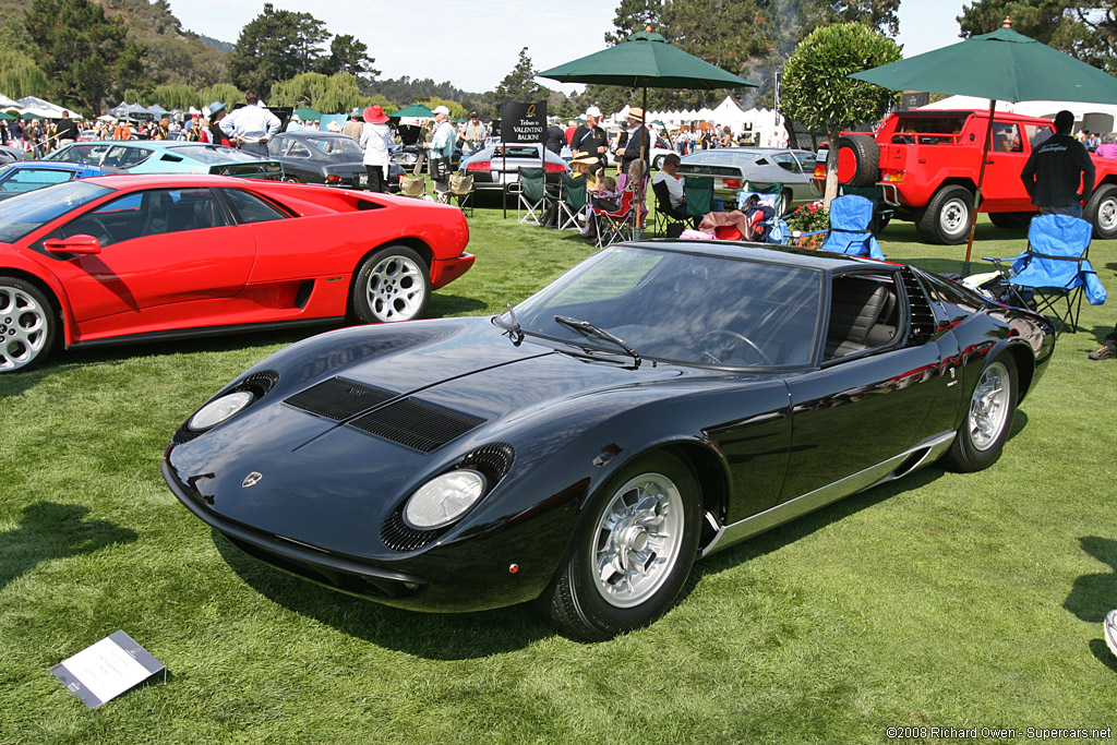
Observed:
[[[382,248],[362,264],[353,281],[353,315],[363,323],[411,321],[430,302],[430,269],[407,246]]]

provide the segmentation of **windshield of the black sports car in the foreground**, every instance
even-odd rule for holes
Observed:
[[[647,247],[595,254],[516,306],[525,334],[646,359],[765,367],[810,362],[821,273],[755,260]],[[564,317],[560,322],[555,316]],[[499,322],[510,327],[509,314]]]

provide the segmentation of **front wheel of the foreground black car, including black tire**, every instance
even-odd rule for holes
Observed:
[[[590,502],[542,610],[601,641],[645,627],[682,589],[698,551],[701,493],[690,467],[657,452],[620,469]]]

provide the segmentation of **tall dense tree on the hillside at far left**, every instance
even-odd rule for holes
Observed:
[[[99,114],[117,80],[142,78],[143,49],[120,18],[88,0],[34,0],[25,26],[48,93]]]

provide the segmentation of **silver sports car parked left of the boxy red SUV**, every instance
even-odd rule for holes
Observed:
[[[783,184],[777,200],[780,214],[786,214],[803,202],[818,199],[811,191],[814,153],[806,150],[776,147],[720,147],[690,153],[679,165],[679,175],[713,178],[714,193],[735,204],[737,192],[746,182],[758,190]]]

